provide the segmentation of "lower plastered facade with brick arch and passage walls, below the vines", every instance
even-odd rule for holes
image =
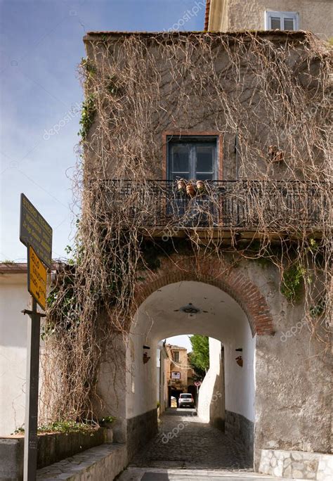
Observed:
[[[100,366],[99,413],[115,416],[114,440],[126,443],[128,460],[157,431],[157,342],[185,333],[223,343],[226,430],[254,451],[256,470],[272,449],[286,457],[295,449],[325,452],[329,362],[306,328],[292,334],[304,325],[303,303],[290,306],[280,293],[274,265],[180,253],[159,261],[158,269],[138,272],[129,333],[112,336],[116,356],[105,352]],[[189,302],[200,311],[195,316],[179,309]],[[143,346],[150,347],[147,362]],[[310,418],[322,419],[316,430]]]

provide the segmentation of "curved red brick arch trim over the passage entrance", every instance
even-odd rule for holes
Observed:
[[[142,275],[141,275],[142,274]],[[216,286],[240,304],[247,315],[252,335],[273,335],[273,319],[265,297],[239,269],[218,257],[184,257],[174,255],[161,259],[157,271],[142,271],[136,285],[135,307],[155,290],[171,283],[197,281]]]

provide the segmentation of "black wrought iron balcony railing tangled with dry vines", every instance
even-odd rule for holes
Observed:
[[[102,184],[110,207],[148,228],[322,229],[329,220],[326,183],[205,181],[197,188],[193,181],[192,189],[165,180]]]

